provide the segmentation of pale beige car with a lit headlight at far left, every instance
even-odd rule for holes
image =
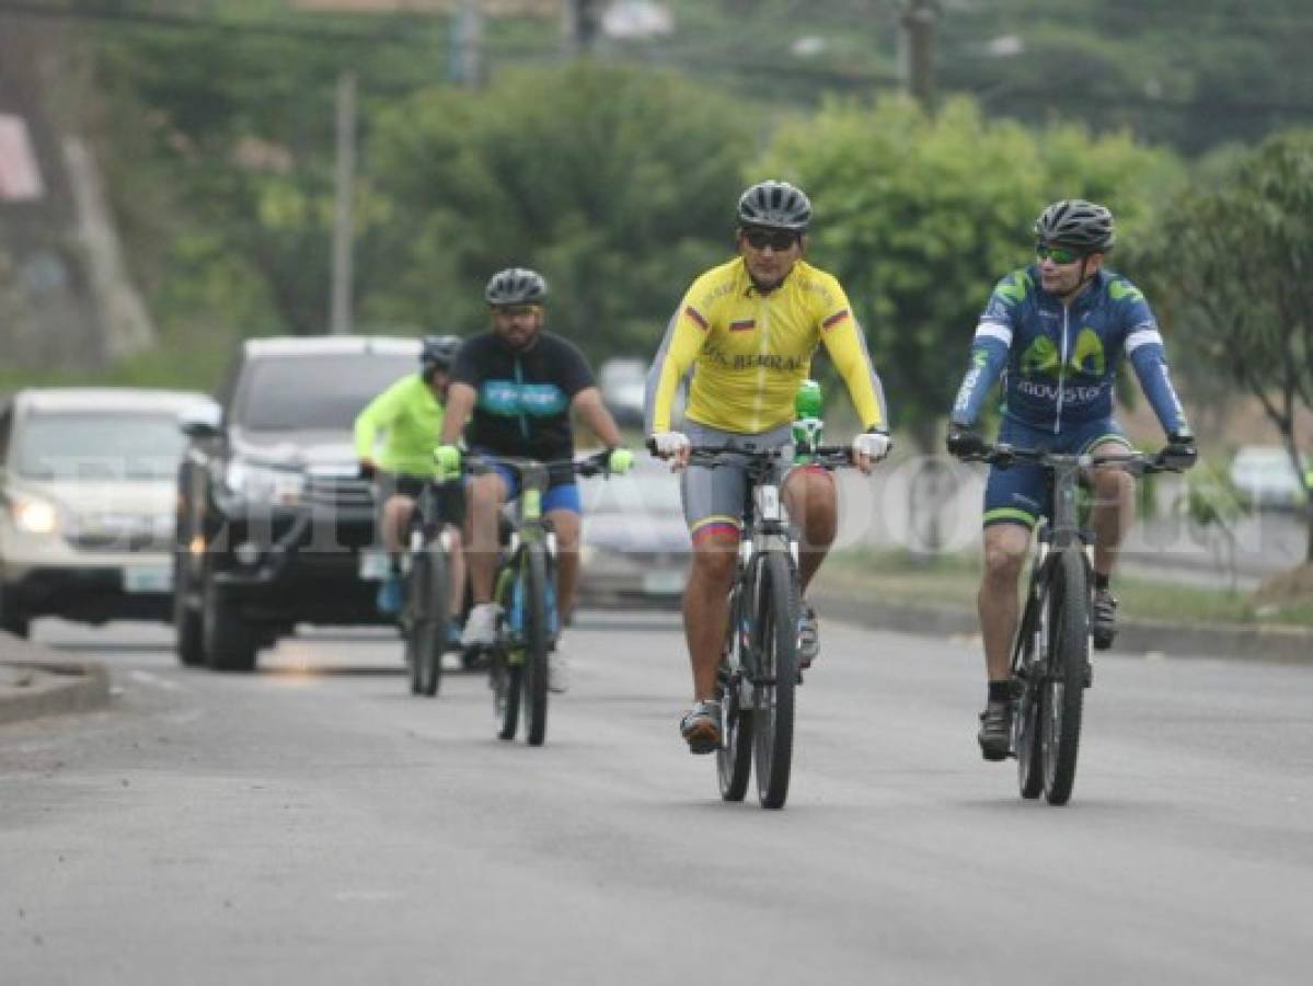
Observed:
[[[167,620],[179,418],[204,394],[32,389],[0,404],[0,629]]]

